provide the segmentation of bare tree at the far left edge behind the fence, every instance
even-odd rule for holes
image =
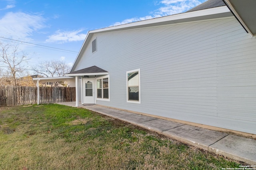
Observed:
[[[9,79],[10,84],[17,86],[18,74],[23,72],[25,63],[29,59],[18,49],[18,45],[14,46],[0,42],[0,50],[0,62],[6,68],[5,77]]]

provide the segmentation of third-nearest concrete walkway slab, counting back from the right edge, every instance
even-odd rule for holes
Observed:
[[[140,123],[140,125],[144,126],[146,129],[154,129],[158,132],[167,131],[169,129],[173,129],[175,127],[182,126],[182,123],[170,122],[163,119],[155,119],[151,121],[146,121]]]

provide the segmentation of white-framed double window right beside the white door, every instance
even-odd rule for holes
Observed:
[[[96,78],[97,80],[97,100],[109,100],[109,75]]]

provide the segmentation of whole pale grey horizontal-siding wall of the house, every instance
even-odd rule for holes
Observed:
[[[256,134],[256,39],[235,18],[98,33],[76,70],[110,74],[97,104]],[[140,68],[141,104],[126,102],[126,71]]]

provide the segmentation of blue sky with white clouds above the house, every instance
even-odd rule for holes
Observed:
[[[28,70],[51,60],[72,65],[88,31],[179,14],[205,1],[0,0],[0,42],[19,45]]]

